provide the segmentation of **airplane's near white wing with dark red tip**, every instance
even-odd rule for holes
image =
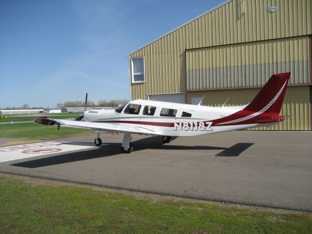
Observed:
[[[37,118],[34,123],[43,125],[57,125],[72,128],[86,128],[100,131],[118,132],[118,133],[135,133],[144,135],[159,135],[155,131],[140,126],[118,126],[113,123],[97,123],[97,122],[84,122],[66,119],[55,118]]]

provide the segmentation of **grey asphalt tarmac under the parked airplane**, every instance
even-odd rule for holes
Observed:
[[[5,161],[0,172],[312,212],[312,132],[227,132],[169,144],[132,136],[131,154],[121,152],[123,135],[101,135],[101,147]],[[83,145],[94,138],[55,141]],[[0,139],[0,147],[10,140],[21,141]]]

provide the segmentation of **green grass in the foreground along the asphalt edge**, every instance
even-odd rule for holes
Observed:
[[[312,215],[307,213],[156,201],[4,174],[0,174],[0,194],[0,230],[6,234],[312,232]]]

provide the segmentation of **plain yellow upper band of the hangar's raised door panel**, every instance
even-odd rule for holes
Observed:
[[[187,70],[308,60],[309,37],[198,48],[187,53]]]

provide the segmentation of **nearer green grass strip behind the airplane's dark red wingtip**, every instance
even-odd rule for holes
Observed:
[[[34,123],[0,124],[0,138],[44,138],[44,137],[67,137],[75,134],[90,134],[93,130],[82,128],[45,126]]]

